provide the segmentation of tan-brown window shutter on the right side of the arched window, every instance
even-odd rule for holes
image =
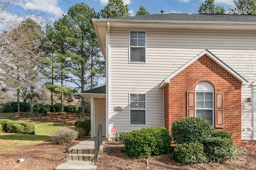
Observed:
[[[223,93],[215,93],[215,127],[223,128]]]

